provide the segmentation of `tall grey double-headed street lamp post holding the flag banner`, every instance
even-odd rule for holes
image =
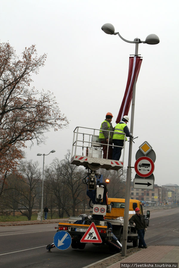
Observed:
[[[118,35],[122,40],[127,43],[135,43],[135,56],[138,56],[138,44],[146,43],[150,45],[155,45],[160,42],[159,38],[155,34],[148,35],[145,41],[141,41],[139,38],[135,38],[134,41],[129,41],[124,39],[119,32],[115,32],[115,28],[112,24],[106,23],[101,29],[109,34],[109,35]],[[136,77],[134,81],[134,85],[132,88],[132,110],[131,110],[131,124],[130,124],[130,132],[133,133],[134,127],[134,108],[135,108],[135,88],[136,88]],[[125,208],[124,208],[124,227],[123,227],[123,240],[122,240],[122,256],[126,256],[127,250],[127,232],[128,232],[128,221],[129,221],[129,199],[130,199],[130,184],[131,184],[131,167],[132,161],[132,140],[129,141],[129,157],[128,157],[128,166],[127,166],[127,174],[126,174],[126,194],[125,194]]]

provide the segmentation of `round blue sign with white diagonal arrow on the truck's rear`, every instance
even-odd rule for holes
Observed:
[[[70,247],[72,239],[66,231],[58,231],[53,237],[53,243],[59,250],[66,250]]]

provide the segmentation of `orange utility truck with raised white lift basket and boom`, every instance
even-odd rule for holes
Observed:
[[[86,243],[102,243],[107,244],[111,251],[121,251],[125,199],[107,197],[107,183],[102,181],[102,175],[98,174],[97,170],[99,168],[122,170],[125,143],[122,160],[103,159],[103,144],[96,135],[97,132],[99,133],[99,130],[76,127],[73,135],[71,158],[71,164],[84,166],[88,170],[83,183],[87,185],[87,196],[90,198],[89,205],[93,209],[92,215],[82,214],[78,217],[70,217],[68,222],[58,224],[58,232],[67,232],[63,236],[63,242],[64,237],[70,234],[71,247],[75,249],[84,249]],[[108,144],[109,146],[111,145]],[[136,207],[140,208],[140,213],[143,215],[141,202],[131,199],[129,218],[135,213]],[[150,212],[147,213],[146,217],[149,217]],[[127,242],[132,242],[133,247],[138,246],[138,234],[131,224],[128,224]],[[49,251],[52,247],[54,247],[54,243],[47,245]],[[61,249],[60,246],[58,248]]]

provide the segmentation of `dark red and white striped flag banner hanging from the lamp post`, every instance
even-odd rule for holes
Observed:
[[[132,100],[132,88],[134,85],[135,77],[136,81],[141,68],[141,57],[129,57],[129,73],[127,78],[126,91],[121,104],[121,108],[116,119],[116,123],[119,123],[124,115],[128,115],[129,108]]]

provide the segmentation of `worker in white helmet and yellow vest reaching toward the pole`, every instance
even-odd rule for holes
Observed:
[[[122,120],[115,126],[113,133],[113,144],[121,147],[113,147],[112,160],[118,161],[120,159],[122,147],[124,146],[125,134],[126,137],[132,137],[132,133],[129,132],[129,128],[127,127],[127,122],[129,122],[129,116],[123,116]]]

